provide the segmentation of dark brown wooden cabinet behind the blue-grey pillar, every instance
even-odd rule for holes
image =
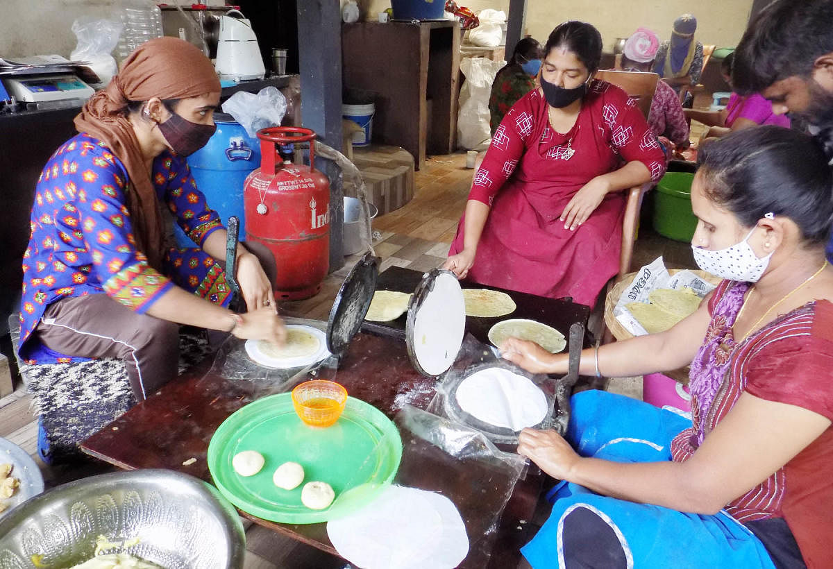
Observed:
[[[373,142],[405,148],[417,169],[426,153],[454,152],[459,70],[459,22],[342,28],[344,86],[375,93]]]

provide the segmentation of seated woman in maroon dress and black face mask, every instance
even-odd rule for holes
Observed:
[[[618,271],[622,190],[659,180],[665,155],[626,92],[592,78],[595,27],[562,23],[545,53],[541,87],[492,137],[443,268],[592,305]]]

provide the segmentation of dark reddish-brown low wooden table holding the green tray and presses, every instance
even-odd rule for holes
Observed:
[[[545,322],[561,321],[567,313],[561,302],[538,300],[554,311]],[[587,310],[579,307],[575,312],[580,321],[581,318],[586,321]],[[82,442],[82,451],[127,470],[169,468],[210,481],[207,450],[217,427],[237,409],[267,392],[250,382],[232,382],[219,377],[208,372],[209,366],[207,362],[163,386]],[[388,417],[395,415],[400,405],[397,395],[402,393],[411,394],[408,402],[413,406],[425,408],[433,397],[436,379],[416,372],[401,338],[368,332],[360,332],[353,339],[332,378],[347,387],[352,397],[381,409]],[[413,394],[416,396],[411,397]],[[530,525],[521,520],[531,520],[535,512],[544,481],[542,473],[532,465],[526,478],[516,483],[496,524],[497,531],[491,532],[495,514],[502,505],[502,501],[496,503],[494,488],[501,484],[501,477],[506,473],[481,462],[451,457],[407,429],[401,428],[400,432],[404,451],[395,482],[441,492],[455,503],[466,523],[470,541],[470,552],[460,567],[515,567],[520,547],[531,538],[526,531]],[[183,465],[191,458],[197,461]],[[245,512],[242,515],[263,527],[337,555],[324,523],[281,524]]]

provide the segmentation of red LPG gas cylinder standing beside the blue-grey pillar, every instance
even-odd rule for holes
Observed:
[[[272,127],[257,132],[261,167],[243,189],[249,241],[269,247],[277,262],[275,297],[309,298],[321,290],[330,265],[330,182],[315,169],[308,128]],[[283,161],[276,144],[310,142],[310,165]]]

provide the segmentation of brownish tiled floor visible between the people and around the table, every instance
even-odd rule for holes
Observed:
[[[692,133],[695,139],[696,135],[696,132]],[[416,194],[412,202],[374,220],[373,228],[379,235],[373,247],[377,256],[382,257],[382,270],[396,265],[427,271],[441,264],[456,232],[456,223],[465,207],[471,184],[472,171],[464,167],[464,162],[465,154],[462,153],[430,157],[426,166],[416,172]],[[669,267],[694,267],[688,244],[671,242],[652,232],[650,227],[642,227],[636,242],[634,267],[651,262],[659,255],[666,258]],[[327,277],[322,292],[316,297],[287,302],[285,310],[298,316],[326,320],[332,299],[356,259],[357,256],[348,257],[344,267]],[[612,380],[609,389],[641,397],[641,377]],[[0,399],[0,437],[35,455],[37,423],[29,410],[30,402],[31,397],[22,387]],[[108,469],[92,461],[71,467],[47,467],[37,457],[36,461],[48,486]],[[247,529],[247,550],[247,569],[345,567],[337,557],[253,525]]]

